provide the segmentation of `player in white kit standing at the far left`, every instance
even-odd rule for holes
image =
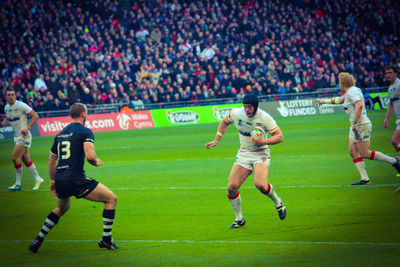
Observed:
[[[39,118],[38,114],[24,102],[16,100],[16,95],[13,89],[6,90],[7,105],[4,108],[6,118],[0,122],[0,128],[11,124],[14,131],[14,151],[12,153],[12,161],[15,167],[15,184],[10,186],[10,191],[21,190],[22,179],[22,162],[28,168],[32,176],[35,178],[33,190],[38,190],[43,183],[43,179],[39,176],[35,164],[32,162],[29,155],[29,148],[32,143],[32,135],[30,129]],[[28,124],[27,115],[31,117]]]

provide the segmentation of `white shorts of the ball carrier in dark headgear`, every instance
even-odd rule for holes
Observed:
[[[260,148],[251,151],[240,149],[236,155],[234,164],[252,171],[256,164],[260,163],[269,167],[270,162],[271,157],[268,148]]]

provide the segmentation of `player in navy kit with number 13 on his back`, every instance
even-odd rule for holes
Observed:
[[[105,185],[89,178],[83,169],[85,157],[95,167],[103,162],[97,158],[93,132],[85,127],[86,106],[75,103],[70,108],[71,123],[54,139],[49,156],[49,175],[53,181],[50,191],[57,197],[57,207],[50,212],[29,250],[37,252],[48,232],[57,224],[71,205],[71,196],[103,202],[103,237],[100,248],[117,249],[111,238],[117,196]],[[57,163],[58,160],[58,163]]]

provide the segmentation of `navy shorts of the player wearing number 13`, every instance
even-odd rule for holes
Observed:
[[[93,178],[85,177],[82,180],[60,180],[56,179],[56,193],[58,198],[74,196],[82,198],[92,192],[99,184]]]

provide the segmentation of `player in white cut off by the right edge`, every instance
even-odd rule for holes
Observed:
[[[386,111],[383,125],[385,128],[388,128],[388,120],[394,112],[396,114],[396,130],[392,136],[392,145],[400,155],[400,79],[397,78],[397,73],[398,71],[395,66],[385,67],[385,76],[390,82],[388,89],[390,103]]]

